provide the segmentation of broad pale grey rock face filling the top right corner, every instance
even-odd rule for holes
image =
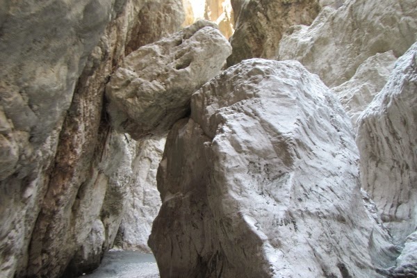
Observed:
[[[299,60],[330,87],[354,76],[370,56],[404,54],[416,41],[416,1],[347,1],[325,7],[311,26],[293,26],[280,44],[279,60]],[[232,44],[233,45],[233,44]]]

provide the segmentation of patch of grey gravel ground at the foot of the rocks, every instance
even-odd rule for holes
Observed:
[[[159,278],[154,255],[136,251],[110,250],[88,278]]]

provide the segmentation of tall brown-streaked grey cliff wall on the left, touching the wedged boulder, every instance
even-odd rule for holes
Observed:
[[[141,21],[161,10],[156,30]],[[177,0],[1,3],[1,277],[88,270],[112,245],[137,150],[106,122],[104,87],[182,13]]]

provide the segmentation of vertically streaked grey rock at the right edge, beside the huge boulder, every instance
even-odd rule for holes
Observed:
[[[398,244],[417,226],[417,43],[359,118],[362,186]]]

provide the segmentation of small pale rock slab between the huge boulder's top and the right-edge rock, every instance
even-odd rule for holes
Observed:
[[[357,125],[357,120],[375,95],[384,88],[397,58],[393,51],[375,54],[366,59],[349,81],[332,88],[338,95],[343,108]]]

